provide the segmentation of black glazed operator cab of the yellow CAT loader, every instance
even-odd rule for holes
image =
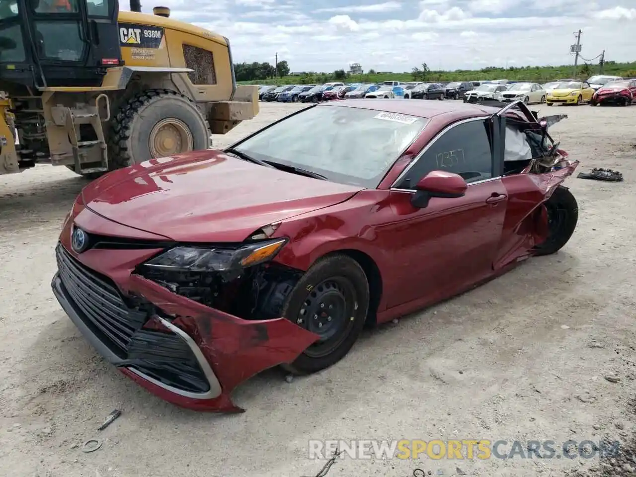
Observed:
[[[121,64],[118,11],[117,0],[0,0],[0,90],[99,86]]]

